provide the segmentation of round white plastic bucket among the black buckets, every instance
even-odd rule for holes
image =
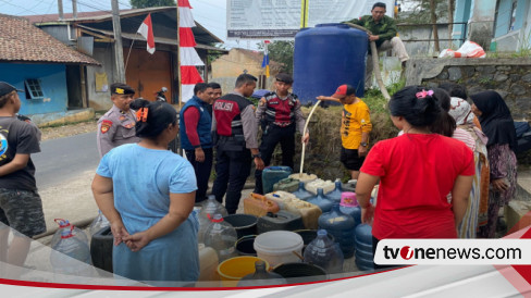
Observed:
[[[271,266],[301,262],[294,251],[302,256],[302,237],[287,231],[271,231],[260,234],[254,244],[258,258],[264,259]]]

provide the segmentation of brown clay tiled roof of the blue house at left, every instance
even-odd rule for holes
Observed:
[[[33,26],[26,18],[0,14],[0,62],[100,64]]]

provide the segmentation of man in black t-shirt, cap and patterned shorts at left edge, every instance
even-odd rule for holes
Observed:
[[[46,232],[35,165],[29,158],[40,152],[39,129],[16,116],[21,109],[17,91],[0,82],[0,261],[16,266],[11,272],[15,277],[26,260],[30,238]],[[14,237],[8,246],[9,227]]]

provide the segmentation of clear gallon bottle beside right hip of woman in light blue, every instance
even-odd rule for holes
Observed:
[[[237,257],[235,244],[238,240],[236,229],[223,221],[221,214],[211,218],[211,224],[205,232],[205,245],[218,252],[220,263],[224,260]]]

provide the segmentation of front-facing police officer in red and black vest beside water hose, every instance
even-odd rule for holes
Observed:
[[[288,74],[275,76],[275,90],[264,95],[258,104],[256,117],[262,127],[260,154],[266,166],[271,162],[274,148],[280,142],[282,148],[282,165],[294,167],[295,131],[304,135],[306,120],[300,111],[300,101],[289,92],[293,78]],[[308,144],[308,133],[301,141]],[[263,194],[262,171],[255,172],[255,193]]]

